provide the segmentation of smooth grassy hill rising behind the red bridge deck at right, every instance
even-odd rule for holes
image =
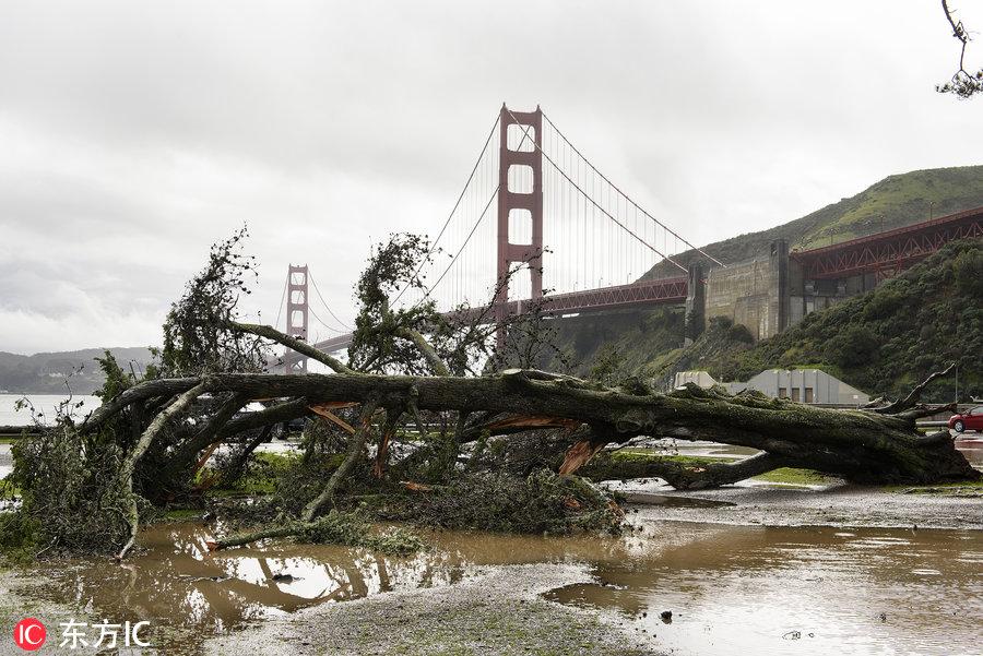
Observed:
[[[932,168],[889,176],[854,196],[795,220],[718,241],[702,250],[722,262],[741,262],[763,252],[774,239],[786,239],[792,249],[818,248],[925,220],[929,202],[935,217],[983,206],[983,166]],[[697,257],[696,251],[685,251],[673,259],[689,265]],[[642,277],[678,275],[678,269],[664,262]]]

